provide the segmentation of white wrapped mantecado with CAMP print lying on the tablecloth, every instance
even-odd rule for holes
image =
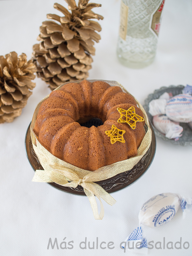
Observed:
[[[159,194],[150,198],[140,209],[139,227],[127,237],[122,247],[133,249],[132,251],[137,253],[147,253],[148,243],[146,237],[143,236],[143,226],[151,228],[162,226],[172,220],[179,208],[185,215],[192,208],[192,198],[186,199],[172,193]],[[130,248],[133,242],[134,246]]]

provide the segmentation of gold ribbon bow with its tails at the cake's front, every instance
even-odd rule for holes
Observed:
[[[101,198],[103,198],[103,200],[110,205],[116,203],[116,200],[103,188],[101,188],[98,184],[89,181],[87,175],[85,175],[83,178],[79,178],[75,172],[68,168],[52,164],[49,164],[49,167],[52,169],[52,171],[46,172],[44,170],[36,170],[32,181],[43,180],[44,182],[55,182],[63,187],[72,188],[76,188],[78,185],[82,186],[86,196],[89,198],[95,220],[102,220],[104,216],[104,207],[101,202]],[[95,196],[97,196],[100,201],[100,214],[98,213]]]

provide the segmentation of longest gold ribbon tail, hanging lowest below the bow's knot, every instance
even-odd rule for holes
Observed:
[[[89,202],[91,204],[91,208],[92,208],[95,220],[102,220],[103,216],[104,216],[104,207],[103,207],[103,204],[100,200],[100,197],[98,197],[99,201],[100,201],[100,206],[101,206],[101,211],[100,211],[100,214],[99,214],[98,213],[98,208],[97,208],[97,202],[95,200],[94,194],[90,190],[87,190],[86,188],[84,188],[84,192],[85,192],[86,196],[89,198]]]

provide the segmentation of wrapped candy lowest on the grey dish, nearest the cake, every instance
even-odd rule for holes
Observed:
[[[168,139],[177,139],[182,136],[183,127],[179,123],[172,122],[165,115],[154,116],[153,125],[159,132],[165,134]]]

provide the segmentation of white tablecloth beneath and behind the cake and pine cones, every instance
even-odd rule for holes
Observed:
[[[65,1],[57,1],[67,6]],[[97,1],[96,1],[97,2]],[[95,44],[96,55],[89,79],[116,80],[140,102],[149,93],[171,84],[192,85],[192,2],[166,0],[158,51],[155,62],[147,68],[129,69],[116,57],[120,0],[100,0],[95,10],[105,17],[100,21],[100,43]],[[32,45],[39,34],[39,26],[47,13],[59,13],[53,0],[0,1],[0,55],[11,51],[25,52],[30,58]],[[25,153],[25,134],[37,103],[51,91],[36,78],[36,88],[22,115],[13,123],[0,124],[0,255],[124,255],[119,244],[138,225],[141,205],[150,197],[165,192],[192,196],[192,147],[174,146],[157,138],[156,155],[144,176],[132,186],[113,194],[117,203],[104,202],[103,220],[94,220],[86,197],[62,193],[46,183],[31,182],[32,170]],[[182,220],[179,211],[173,220],[160,228],[146,228],[148,241],[173,244],[188,241],[189,249],[153,249],[149,255],[192,254],[192,212]],[[49,248],[49,238],[60,243],[74,241],[72,250]],[[92,242],[114,242],[115,248],[82,250],[79,243],[87,237]],[[105,244],[103,244],[104,246]],[[88,246],[88,245],[87,245]],[[128,252],[126,252],[128,253]],[[133,255],[129,252],[129,255]]]

